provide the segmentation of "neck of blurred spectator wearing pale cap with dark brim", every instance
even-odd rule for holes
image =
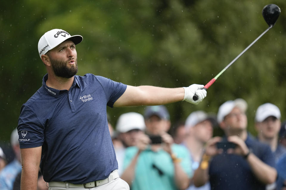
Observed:
[[[204,150],[204,144],[194,137],[186,137],[184,141],[186,147],[192,155],[192,159],[199,162]]]

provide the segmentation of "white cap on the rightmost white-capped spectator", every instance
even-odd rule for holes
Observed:
[[[279,108],[271,103],[262,104],[256,110],[255,121],[262,122],[269,116],[274,116],[277,119],[280,119],[281,113]]]

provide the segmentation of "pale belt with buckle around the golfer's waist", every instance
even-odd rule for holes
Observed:
[[[106,179],[92,181],[92,182],[84,183],[84,184],[73,184],[73,183],[62,182],[62,181],[51,181],[51,182],[49,182],[49,187],[92,188],[92,187],[96,187],[96,186],[100,186],[100,185],[109,183],[116,178],[119,178],[119,174],[118,174],[117,170],[114,170],[113,172],[111,172],[109,174],[108,178],[106,178]]]

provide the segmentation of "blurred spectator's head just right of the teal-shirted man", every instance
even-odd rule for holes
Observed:
[[[169,130],[169,133],[172,136],[174,143],[181,144],[186,135],[185,122],[177,121]]]

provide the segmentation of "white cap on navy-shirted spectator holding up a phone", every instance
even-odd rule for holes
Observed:
[[[229,100],[224,102],[217,112],[217,122],[220,123],[223,121],[224,117],[228,115],[234,107],[238,107],[242,112],[247,110],[247,103],[244,99],[238,98],[235,100]]]

